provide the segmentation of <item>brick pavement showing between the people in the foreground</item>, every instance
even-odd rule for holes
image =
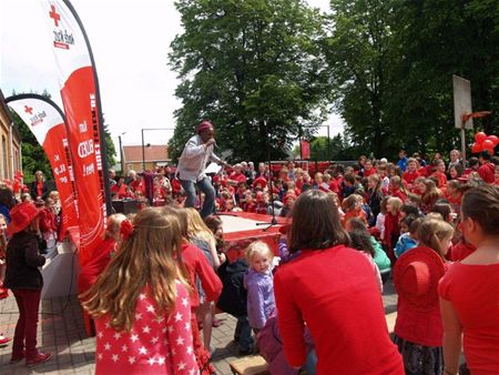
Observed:
[[[385,285],[385,312],[393,321],[397,296],[391,282]],[[217,374],[232,374],[228,364],[238,358],[237,345],[233,342],[235,318],[227,314],[218,314],[223,324],[213,330],[212,345],[216,352],[213,363]],[[18,308],[12,295],[0,301],[0,332],[12,337],[18,318]],[[43,300],[39,324],[39,347],[54,353],[54,357],[34,368],[26,367],[24,362],[9,364],[11,345],[0,348],[0,374],[51,374],[51,375],[92,375],[95,363],[95,339],[86,337],[81,308],[75,296]]]

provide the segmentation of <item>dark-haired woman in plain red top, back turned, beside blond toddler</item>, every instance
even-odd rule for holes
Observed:
[[[320,374],[404,374],[390,342],[373,267],[348,247],[333,197],[302,193],[288,232],[291,252],[301,254],[274,277],[284,352],[292,366],[306,359],[310,330]]]

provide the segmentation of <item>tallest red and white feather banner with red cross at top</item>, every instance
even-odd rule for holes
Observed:
[[[91,51],[69,1],[43,1],[59,67],[78,196],[80,263],[102,244],[106,216],[101,123]]]

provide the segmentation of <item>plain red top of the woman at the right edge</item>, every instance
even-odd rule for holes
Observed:
[[[438,292],[452,303],[462,324],[471,374],[499,374],[499,264],[454,263]]]

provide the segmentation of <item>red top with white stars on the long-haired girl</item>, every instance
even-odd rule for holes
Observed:
[[[191,333],[189,293],[176,284],[173,312],[159,312],[144,290],[136,300],[130,332],[114,331],[109,317],[95,320],[95,375],[198,374]]]

